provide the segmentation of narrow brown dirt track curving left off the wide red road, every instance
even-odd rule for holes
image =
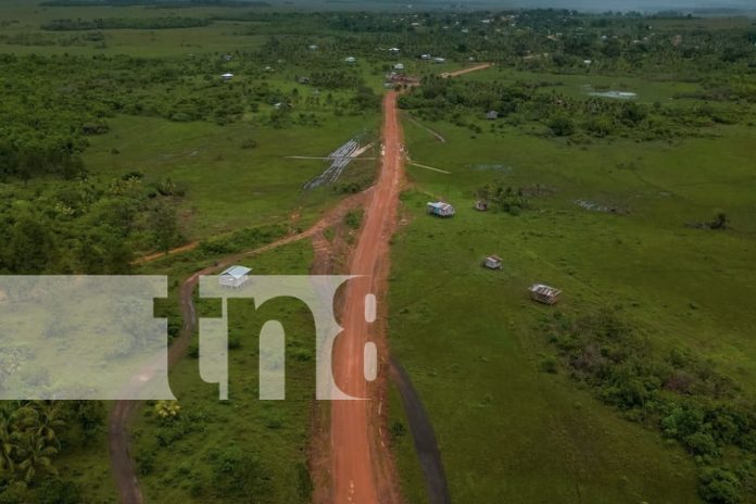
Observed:
[[[200,276],[213,275],[219,272],[222,268],[228,267],[230,264],[234,264],[243,257],[267,252],[275,248],[293,243],[305,238],[312,238],[316,234],[323,232],[333,224],[341,222],[346,213],[351,210],[362,206],[364,200],[370,194],[370,192],[371,189],[368,189],[363,193],[345,199],[339,203],[338,206],[329,211],[320,220],[317,222],[317,224],[303,232],[290,235],[259,249],[234,254],[213,266],[209,266],[194,273],[192,276],[187,278],[181,285],[179,292],[184,326],[179,337],[174,340],[173,344],[168,349],[168,368],[173,367],[178,361],[181,360],[181,357],[184,357],[184,355],[186,355],[189,343],[191,342],[191,335],[194,330],[194,325],[197,324],[192,292],[200,279]],[[134,418],[134,414],[137,412],[140,404],[141,403],[139,401],[117,401],[113,406],[108,419],[108,444],[110,450],[111,468],[113,470],[113,475],[118,487],[118,494],[121,495],[121,502],[123,504],[142,504],[144,502],[139,489],[139,481],[137,479],[134,461],[130,456],[130,439],[128,434],[128,425]]]

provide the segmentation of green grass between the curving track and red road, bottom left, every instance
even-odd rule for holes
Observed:
[[[241,264],[257,275],[303,275],[312,257],[311,244],[303,241]],[[198,313],[217,316],[219,304],[202,302]],[[286,401],[257,399],[256,335],[268,319],[280,320],[287,331]],[[229,353],[230,400],[218,401],[217,387],[199,378],[199,361],[186,358],[171,374],[181,406],[179,421],[161,424],[148,404],[131,429],[137,464],[147,472],[141,486],[150,502],[247,502],[243,496],[224,495],[213,483],[217,477],[213,457],[234,449],[253,454],[260,464],[263,481],[248,489],[248,494],[256,494],[261,502],[308,502],[312,483],[306,464],[315,374],[312,319],[293,301],[255,310],[251,301],[235,300],[229,302],[229,338],[238,341]],[[177,463],[177,457],[184,462]]]

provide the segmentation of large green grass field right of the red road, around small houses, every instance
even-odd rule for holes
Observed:
[[[742,295],[756,285],[751,131],[580,148],[429,124],[446,138],[440,143],[404,126],[413,161],[452,172],[408,167],[411,223],[395,238],[390,291],[392,353],[437,429],[452,501],[695,501],[694,464],[676,444],[622,420],[568,370],[540,371],[553,349],[536,327],[554,308],[529,301],[527,287],[564,289],[567,313],[616,308],[659,351],[690,348],[752,388],[756,319]],[[517,217],[477,212],[474,191],[495,178],[545,190]],[[427,216],[433,198],[457,215]],[[732,229],[685,227],[717,209]],[[487,254],[504,259],[502,272],[480,266]],[[400,467],[413,464],[410,443],[398,453]],[[406,493],[423,502],[418,474],[408,474]]]

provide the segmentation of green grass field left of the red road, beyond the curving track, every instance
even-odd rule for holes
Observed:
[[[111,131],[94,138],[87,150],[92,172],[114,177],[138,169],[148,181],[171,178],[186,188],[179,203],[186,234],[203,239],[242,227],[287,224],[294,213],[301,215],[297,226],[312,224],[341,196],[330,187],[302,191],[307,180],[328,167],[326,161],[286,156],[325,156],[365,131],[369,138],[377,117],[329,117],[318,128],[285,129],[127,116],[110,124]],[[243,149],[250,138],[257,147]],[[349,172],[373,169],[374,161],[358,161]]]

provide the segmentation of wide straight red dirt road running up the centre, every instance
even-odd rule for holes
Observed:
[[[365,294],[386,299],[389,273],[389,240],[395,228],[399,193],[403,180],[402,133],[396,110],[396,93],[383,100],[383,161],[378,182],[367,207],[365,222],[350,262],[350,274],[366,275],[349,282],[341,316],[343,332],[336,341],[333,376],[339,387],[353,396],[370,398],[376,386],[364,378],[363,349],[367,341],[378,348],[381,331],[365,320]],[[370,336],[373,338],[370,338]],[[378,340],[378,341],[376,341]],[[385,357],[385,356],[379,356]],[[379,450],[375,423],[375,401],[333,401],[331,403],[331,502],[374,504],[394,502],[392,484],[385,478],[380,461],[388,453]],[[375,432],[374,432],[375,430]],[[387,451],[388,452],[388,451]]]

